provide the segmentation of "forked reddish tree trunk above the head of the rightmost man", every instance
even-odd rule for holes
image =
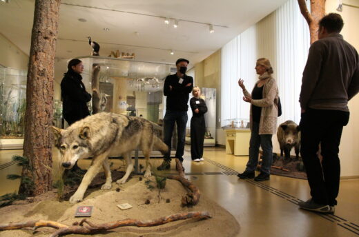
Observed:
[[[307,0],[298,0],[300,12],[309,25],[309,33],[311,35],[311,44],[318,39],[319,21],[325,14],[325,0],[310,0],[311,12],[305,3]]]

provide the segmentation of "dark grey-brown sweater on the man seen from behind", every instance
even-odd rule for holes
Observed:
[[[340,34],[329,34],[309,48],[300,107],[349,111],[348,101],[359,91],[359,56]]]

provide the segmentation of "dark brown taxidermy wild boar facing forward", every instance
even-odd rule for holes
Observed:
[[[295,159],[299,158],[300,149],[300,128],[293,121],[285,121],[280,124],[277,132],[278,143],[280,145],[280,156],[285,154],[285,158],[291,157],[291,149],[295,147]]]

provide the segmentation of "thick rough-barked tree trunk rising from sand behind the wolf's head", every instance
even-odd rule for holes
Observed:
[[[22,176],[34,181],[30,194],[51,189],[54,61],[59,25],[60,0],[36,0],[32,25],[28,81],[26,85],[25,138],[23,156],[31,169]],[[21,183],[19,194],[26,193]]]

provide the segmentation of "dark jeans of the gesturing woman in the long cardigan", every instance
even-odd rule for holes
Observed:
[[[262,168],[260,172],[264,174],[271,173],[273,160],[272,134],[259,134],[260,124],[253,122],[251,140],[249,141],[249,161],[246,165],[247,172],[254,172],[258,165],[258,155],[260,147],[263,150]]]

